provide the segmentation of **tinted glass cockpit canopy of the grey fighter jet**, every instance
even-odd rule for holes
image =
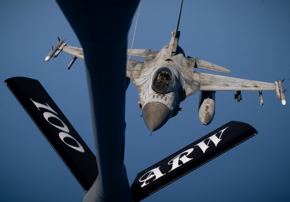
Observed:
[[[152,90],[157,93],[170,93],[174,87],[175,74],[171,67],[162,66],[153,75]]]

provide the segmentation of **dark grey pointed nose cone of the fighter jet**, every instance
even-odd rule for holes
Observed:
[[[168,106],[161,102],[147,103],[142,113],[145,124],[151,132],[161,128],[170,117]]]

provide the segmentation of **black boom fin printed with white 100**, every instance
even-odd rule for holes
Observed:
[[[13,77],[4,82],[87,192],[98,175],[93,152],[39,81]]]

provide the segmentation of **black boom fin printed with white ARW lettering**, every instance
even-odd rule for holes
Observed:
[[[138,173],[131,192],[141,201],[185,174],[257,134],[251,125],[230,121],[183,149]]]

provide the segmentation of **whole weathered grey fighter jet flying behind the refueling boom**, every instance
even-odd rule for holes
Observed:
[[[262,91],[276,90],[277,98],[282,100],[283,105],[286,104],[282,86],[284,80],[267,83],[195,72],[197,69],[205,69],[231,73],[230,70],[219,65],[199,58],[186,57],[182,48],[178,46],[181,8],[176,29],[171,32],[172,37],[167,46],[164,46],[160,51],[127,50],[127,55],[145,58],[144,62],[127,59],[126,77],[128,78],[127,87],[130,79],[138,89],[140,96],[138,103],[146,126],[151,133],[161,128],[168,119],[177,115],[182,110],[180,108],[182,101],[198,91],[200,91],[198,115],[204,125],[210,124],[213,120],[216,91],[236,91],[235,99],[239,102],[242,100],[241,91],[256,90],[260,95],[260,104],[263,105]],[[59,39],[59,43],[45,60],[57,57],[61,51],[74,56],[68,69],[78,57],[84,59],[82,48],[68,46]]]

